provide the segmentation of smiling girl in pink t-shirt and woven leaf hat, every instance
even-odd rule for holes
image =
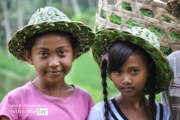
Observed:
[[[64,77],[73,61],[90,49],[94,36],[88,26],[71,22],[56,8],[38,9],[8,44],[10,53],[34,65],[38,75],[4,97],[2,120],[85,120],[94,102]]]

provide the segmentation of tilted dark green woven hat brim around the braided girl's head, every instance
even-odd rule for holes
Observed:
[[[149,55],[152,57],[156,64],[157,70],[156,94],[168,88],[172,78],[172,72],[170,65],[167,59],[164,57],[163,53],[148,41],[141,37],[132,35],[127,31],[117,30],[115,28],[105,28],[96,32],[95,42],[92,46],[92,52],[94,60],[98,65],[100,65],[102,55],[106,53],[108,44],[118,40],[129,41],[133,44],[136,44],[146,50],[147,53],[149,53]],[[148,93],[148,91],[150,90],[145,88],[145,93]]]

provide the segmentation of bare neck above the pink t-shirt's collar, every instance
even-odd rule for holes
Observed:
[[[37,76],[32,84],[39,89],[42,93],[54,96],[54,97],[68,97],[72,94],[74,88],[63,81],[56,83],[40,80]]]

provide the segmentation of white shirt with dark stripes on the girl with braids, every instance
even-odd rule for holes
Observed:
[[[110,107],[112,109],[112,112],[114,115],[118,118],[118,120],[127,120],[127,118],[124,116],[124,114],[119,109],[118,105],[114,103],[113,99],[108,100]],[[160,105],[156,102],[157,106],[157,114],[156,114],[156,120],[159,120],[160,118]],[[168,107],[163,106],[163,120],[170,120],[170,111]],[[100,102],[92,107],[90,114],[88,116],[87,120],[105,120],[104,117],[104,102]],[[114,120],[114,118],[109,114],[109,120]]]

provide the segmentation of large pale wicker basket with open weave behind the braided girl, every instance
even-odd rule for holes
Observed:
[[[124,9],[122,7],[123,4],[129,5],[131,10]],[[129,21],[138,23],[141,27],[148,29],[155,27],[163,31],[161,36],[157,34],[156,36],[160,42],[161,50],[164,47],[168,48],[168,51],[162,50],[168,55],[180,49],[180,37],[178,39],[170,37],[171,32],[180,33],[180,20],[167,13],[165,10],[166,4],[157,0],[99,0],[95,31],[104,27],[115,27],[125,30],[130,27],[128,25]],[[141,13],[142,9],[151,12],[153,16],[143,15]],[[117,19],[114,19],[114,21],[113,17]],[[168,19],[169,22],[164,21],[163,18]],[[118,19],[120,20],[118,21]]]

